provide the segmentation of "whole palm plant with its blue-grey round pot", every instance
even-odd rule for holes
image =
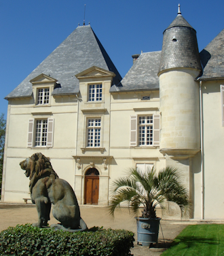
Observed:
[[[158,240],[160,218],[156,216],[156,206],[164,208],[168,201],[175,202],[182,215],[189,206],[187,189],[175,167],[166,167],[160,172],[154,167],[146,172],[130,169],[126,177],[113,181],[111,193],[109,213],[114,216],[115,209],[127,202],[130,212],[136,217],[138,243],[143,246],[150,246]],[[141,208],[142,216],[138,217]]]

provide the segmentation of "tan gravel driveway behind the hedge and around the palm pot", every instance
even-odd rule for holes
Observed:
[[[54,206],[53,206],[54,207]],[[104,227],[112,229],[128,229],[136,234],[136,221],[130,217],[128,210],[122,208],[115,212],[115,218],[109,217],[107,208],[100,206],[80,206],[81,217],[88,227]],[[33,204],[5,204],[0,203],[0,231],[18,224],[37,222],[37,210]],[[160,216],[160,212],[158,214]],[[51,214],[49,224],[58,223]],[[189,224],[188,221],[161,221],[159,242],[157,247],[148,248],[134,242],[132,254],[134,256],[160,255],[170,242]],[[136,239],[136,235],[135,235]]]

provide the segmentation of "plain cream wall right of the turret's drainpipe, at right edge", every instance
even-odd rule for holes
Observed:
[[[224,80],[202,81],[204,122],[204,218],[223,219],[224,127],[220,85]]]

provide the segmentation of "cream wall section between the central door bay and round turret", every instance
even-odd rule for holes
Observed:
[[[150,100],[142,100],[144,95],[150,95]],[[124,170],[136,167],[137,163],[153,163],[157,170],[164,167],[160,145],[138,146],[137,143],[136,146],[130,146],[130,117],[153,114],[160,115],[159,91],[113,93],[111,95],[110,155],[117,163],[112,166],[111,177],[119,173],[123,174]]]

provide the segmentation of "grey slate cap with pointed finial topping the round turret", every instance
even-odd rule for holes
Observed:
[[[202,71],[196,31],[181,15],[178,15],[164,31],[159,75],[173,68],[191,68]]]

